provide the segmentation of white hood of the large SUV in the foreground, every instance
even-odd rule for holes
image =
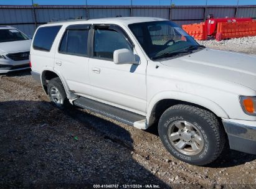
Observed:
[[[208,78],[230,81],[256,91],[256,56],[206,48],[184,57],[161,61]]]

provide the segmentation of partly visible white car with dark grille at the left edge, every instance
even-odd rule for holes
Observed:
[[[0,73],[29,68],[31,39],[11,26],[0,26]]]

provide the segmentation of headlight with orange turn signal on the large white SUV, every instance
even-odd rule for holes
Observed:
[[[240,96],[240,104],[246,114],[256,116],[256,96]]]

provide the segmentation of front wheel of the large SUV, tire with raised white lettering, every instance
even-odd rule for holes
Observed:
[[[225,131],[216,116],[186,104],[164,111],[158,132],[171,155],[192,165],[210,164],[225,145]]]

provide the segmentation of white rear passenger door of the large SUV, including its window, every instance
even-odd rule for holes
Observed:
[[[91,94],[88,77],[90,27],[90,24],[69,25],[55,53],[54,70],[65,78],[75,94]]]

